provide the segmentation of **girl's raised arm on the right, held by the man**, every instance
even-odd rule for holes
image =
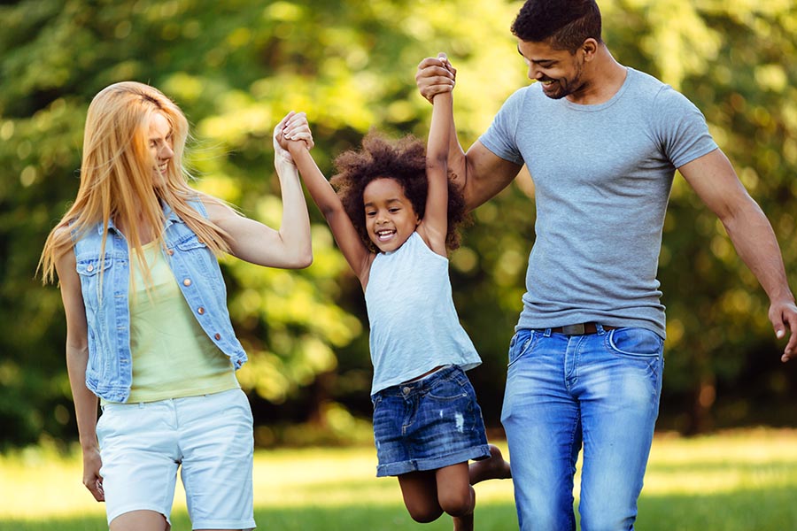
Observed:
[[[438,56],[445,65],[450,65],[445,54]],[[419,233],[429,248],[444,257],[445,236],[448,233],[448,151],[453,124],[452,93],[441,92],[434,96],[431,126],[426,149],[426,177],[429,192],[426,197],[426,213]]]

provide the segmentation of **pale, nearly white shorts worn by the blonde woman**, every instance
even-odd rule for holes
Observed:
[[[120,514],[139,510],[159,512],[168,520],[182,465],[194,529],[255,527],[251,408],[241,389],[106,404],[97,439],[109,525]]]

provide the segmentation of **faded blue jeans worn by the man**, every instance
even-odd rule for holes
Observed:
[[[522,530],[576,529],[573,476],[582,446],[582,529],[634,528],[663,368],[663,340],[644,328],[515,334],[501,422]]]

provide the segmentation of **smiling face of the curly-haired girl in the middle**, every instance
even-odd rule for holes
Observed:
[[[390,177],[369,182],[362,200],[368,237],[382,252],[399,249],[421,222],[404,187]]]

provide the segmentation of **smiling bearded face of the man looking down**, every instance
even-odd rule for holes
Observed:
[[[581,49],[572,54],[568,50],[556,50],[547,42],[518,39],[517,51],[529,66],[529,79],[539,81],[546,96],[561,99],[584,89]]]

